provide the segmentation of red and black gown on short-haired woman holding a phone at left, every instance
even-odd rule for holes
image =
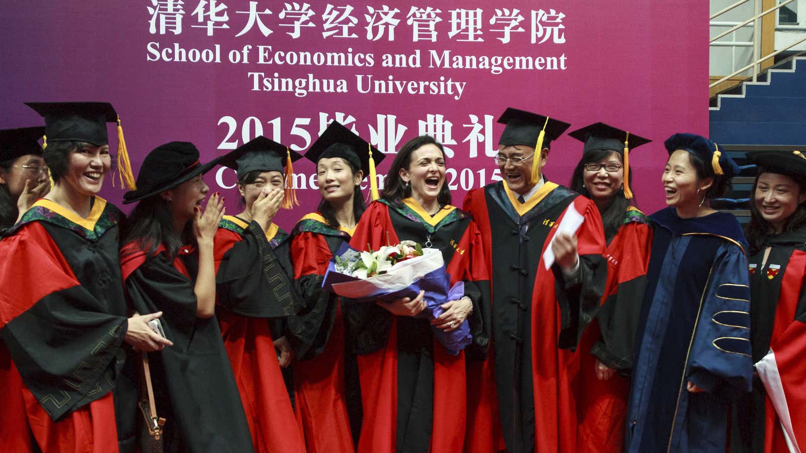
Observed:
[[[87,218],[41,199],[0,241],[4,451],[118,451],[116,405],[134,434],[121,410],[136,404],[123,376],[121,218],[100,197]],[[135,447],[120,437],[120,449]]]

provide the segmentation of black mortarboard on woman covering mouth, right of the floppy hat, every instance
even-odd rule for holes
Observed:
[[[302,158],[298,152],[293,152],[285,145],[260,135],[222,156],[218,164],[234,169],[238,172],[240,180],[248,172],[255,170],[285,173],[284,168],[289,155],[292,162]]]

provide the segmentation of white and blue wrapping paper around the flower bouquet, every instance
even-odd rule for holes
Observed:
[[[417,297],[422,290],[426,301],[426,310],[418,314],[418,318],[434,319],[442,314],[442,304],[458,300],[464,295],[464,283],[459,281],[451,287],[451,276],[448,275],[442,260],[442,252],[435,248],[423,249],[423,255],[398,262],[386,269],[384,274],[358,278],[336,270],[337,258],[342,261],[359,259],[360,252],[346,243],[336,251],[333,260],[328,264],[322,288],[342,297],[355,301],[387,301],[401,297]],[[467,320],[459,327],[446,332],[431,326],[434,337],[452,355],[459,355],[472,341],[470,326]]]

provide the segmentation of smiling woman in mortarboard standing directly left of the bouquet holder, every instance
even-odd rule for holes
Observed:
[[[358,368],[345,336],[343,300],[322,288],[322,278],[364,214],[361,181],[365,176],[377,192],[370,168],[380,164],[384,154],[376,148],[370,154],[368,149],[369,143],[334,121],[305,153],[316,165],[322,200],[318,210],[294,227],[294,282],[305,309],[289,317],[289,328],[297,351],[297,420],[308,451],[355,451],[359,434]]]

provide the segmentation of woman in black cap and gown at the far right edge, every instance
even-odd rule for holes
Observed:
[[[775,357],[787,414],[773,409],[761,380],[753,380],[753,396],[733,406],[730,451],[789,451],[788,433],[800,430],[794,442],[804,445],[803,363],[806,349],[806,148],[800,151],[748,153],[758,166],[750,199],[750,343],[753,363]],[[772,350],[773,354],[769,353]],[[796,358],[795,367],[787,357]],[[788,437],[788,436],[787,436]],[[803,448],[801,448],[803,450]]]

